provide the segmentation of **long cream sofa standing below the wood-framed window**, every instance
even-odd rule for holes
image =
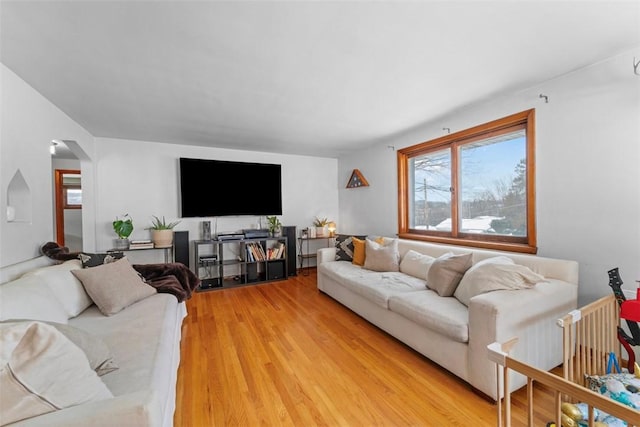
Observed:
[[[518,337],[515,358],[544,370],[562,363],[556,319],[577,307],[577,262],[404,239],[397,245],[400,260],[410,250],[436,258],[471,252],[474,265],[506,256],[546,280],[528,289],[477,295],[467,307],[454,296],[427,289],[426,277],[405,274],[402,267],[395,273],[370,271],[336,261],[336,248],[322,248],[317,253],[318,289],[493,400],[498,392],[489,344]],[[525,383],[519,374],[511,378],[512,390]]]

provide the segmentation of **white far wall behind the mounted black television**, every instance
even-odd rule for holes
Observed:
[[[298,232],[311,226],[316,215],[329,218],[338,215],[336,159],[96,138],[97,249],[113,247],[116,236],[111,223],[118,215],[128,213],[133,218],[131,239],[150,238],[145,227],[150,225],[152,215],[164,215],[167,221],[179,219],[180,157],[281,164],[283,214],[280,218],[284,225],[297,226]],[[202,192],[224,202],[224,184],[203,183]],[[268,183],[247,183],[247,197],[261,191],[263,185]],[[183,218],[176,230],[188,230],[190,240],[200,239],[203,220],[211,221],[212,228],[217,222],[219,233],[257,227],[260,220],[266,228],[264,218],[237,216],[217,220]]]

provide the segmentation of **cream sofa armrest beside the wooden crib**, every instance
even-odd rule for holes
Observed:
[[[517,337],[512,356],[539,369],[562,363],[562,331],[556,320],[578,305],[578,286],[549,279],[531,289],[494,291],[469,304],[469,372],[473,384],[493,384],[487,346]],[[526,379],[518,374],[514,385]]]

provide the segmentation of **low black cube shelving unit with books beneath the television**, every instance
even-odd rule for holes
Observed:
[[[272,249],[282,245],[281,253]],[[266,283],[287,278],[287,239],[195,240],[199,291]]]

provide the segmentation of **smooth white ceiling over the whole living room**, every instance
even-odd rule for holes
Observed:
[[[94,136],[334,157],[637,47],[640,2],[2,0],[0,36]]]

